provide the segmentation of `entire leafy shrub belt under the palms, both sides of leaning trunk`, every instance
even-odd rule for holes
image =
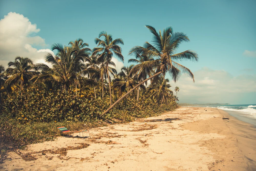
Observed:
[[[99,118],[109,107],[107,99],[79,99],[74,92],[46,92],[37,87],[30,87],[23,95],[7,98],[3,102],[5,118],[16,119],[21,123],[90,121]],[[104,119],[118,119],[121,122],[134,120],[136,117],[156,116],[165,110],[174,110],[175,104],[158,105],[137,102],[126,98],[117,104]]]

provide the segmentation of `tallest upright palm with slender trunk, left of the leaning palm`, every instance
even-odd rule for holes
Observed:
[[[104,37],[104,40],[101,40],[101,36]],[[104,61],[105,67],[106,67],[106,73],[108,75],[108,81],[109,81],[109,94],[110,94],[110,106],[112,105],[112,97],[111,97],[111,84],[110,84],[110,77],[109,77],[109,65],[111,65],[111,59],[113,55],[115,54],[119,59],[124,62],[124,57],[122,55],[122,49],[118,44],[123,45],[124,42],[122,39],[117,38],[113,40],[112,35],[107,34],[105,31],[101,31],[99,34],[99,38],[95,38],[95,43],[97,46],[101,47],[96,47],[93,49],[93,55],[96,55],[98,53],[102,53],[99,56],[99,60]],[[113,62],[112,62],[113,63]]]

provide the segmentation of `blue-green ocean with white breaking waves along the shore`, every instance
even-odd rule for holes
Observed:
[[[209,105],[209,106],[191,106],[218,108],[228,112],[238,120],[247,122],[256,127],[256,104],[236,104],[236,105]]]

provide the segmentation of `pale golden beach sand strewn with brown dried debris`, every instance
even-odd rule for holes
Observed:
[[[183,107],[28,145],[0,170],[256,170],[255,133],[225,111]]]

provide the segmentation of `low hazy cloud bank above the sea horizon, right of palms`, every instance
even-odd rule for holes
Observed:
[[[195,71],[194,76],[195,83],[186,76],[182,76],[176,83],[170,83],[173,91],[175,86],[180,88],[180,103],[235,104],[246,99],[244,94],[256,93],[256,75],[242,74],[233,77],[224,70],[202,68]],[[253,102],[256,98],[247,100]]]

